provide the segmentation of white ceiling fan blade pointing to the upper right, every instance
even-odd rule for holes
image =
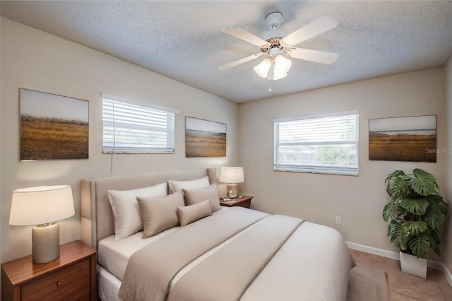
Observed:
[[[295,46],[305,40],[310,39],[311,37],[315,37],[316,35],[320,35],[321,33],[325,33],[328,30],[332,30],[338,26],[336,21],[328,16],[321,16],[316,18],[316,20],[304,25],[299,30],[295,30],[293,33],[290,33],[283,39],[281,39],[281,43],[285,47]]]

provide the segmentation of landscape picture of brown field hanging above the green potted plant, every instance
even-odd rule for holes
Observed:
[[[436,116],[369,119],[369,160],[436,163]]]

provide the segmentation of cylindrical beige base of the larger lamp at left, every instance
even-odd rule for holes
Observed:
[[[59,223],[37,225],[31,233],[33,264],[47,264],[59,257]]]

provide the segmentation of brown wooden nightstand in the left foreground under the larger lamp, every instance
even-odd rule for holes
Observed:
[[[1,264],[1,298],[97,300],[97,253],[80,240],[61,244],[59,258],[33,264],[32,255]]]

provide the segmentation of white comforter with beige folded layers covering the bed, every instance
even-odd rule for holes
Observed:
[[[354,264],[343,237],[332,228],[234,207],[134,253],[119,297],[345,300]],[[191,268],[177,276],[185,266]]]

